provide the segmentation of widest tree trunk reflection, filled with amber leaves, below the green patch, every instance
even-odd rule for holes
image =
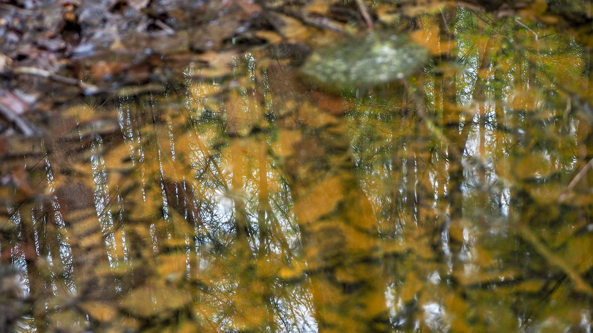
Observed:
[[[286,176],[318,329],[388,332],[377,222],[355,177],[342,100],[309,91],[288,67],[267,73],[280,141],[291,142]]]

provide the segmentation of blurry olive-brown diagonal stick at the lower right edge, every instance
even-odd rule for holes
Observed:
[[[576,290],[593,296],[593,288],[591,288],[591,286],[589,286],[589,284],[586,283],[585,280],[583,280],[581,274],[575,271],[573,267],[570,267],[570,265],[565,260],[563,260],[556,254],[554,254],[552,251],[550,251],[546,244],[543,244],[537,238],[535,233],[533,233],[533,231],[531,231],[531,229],[528,226],[524,225],[524,223],[521,223],[519,225],[519,233],[521,235],[521,238],[523,238],[525,241],[531,244],[531,246],[535,248],[535,251],[537,251],[542,257],[544,257],[550,264],[560,268],[560,270],[562,270],[566,275],[568,275],[570,279],[575,283]]]

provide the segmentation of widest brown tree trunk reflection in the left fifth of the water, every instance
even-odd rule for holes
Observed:
[[[92,178],[79,174],[75,168],[85,161],[84,147],[75,127],[74,119],[56,121],[60,136],[50,145],[50,167],[60,212],[68,229],[79,297],[107,301],[113,299],[115,289],[111,276],[103,273],[109,271],[109,259],[95,209]],[[90,165],[84,167],[91,172]]]

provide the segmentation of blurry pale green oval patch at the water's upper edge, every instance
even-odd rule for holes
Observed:
[[[427,59],[406,36],[369,34],[311,53],[301,72],[327,88],[371,88],[412,75]]]

